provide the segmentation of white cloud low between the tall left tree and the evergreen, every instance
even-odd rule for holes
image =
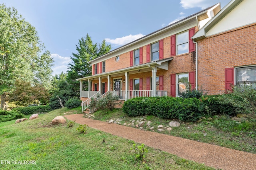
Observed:
[[[52,75],[60,74],[61,72],[66,73],[68,70],[68,63],[71,63],[72,59],[70,59],[70,57],[62,57],[58,54],[51,54],[51,57],[54,60],[54,66],[52,66]]]

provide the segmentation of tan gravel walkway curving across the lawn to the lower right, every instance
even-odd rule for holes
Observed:
[[[65,115],[64,117],[76,121],[76,123],[86,124],[94,129],[130,139],[137,143],[144,143],[149,147],[160,149],[188,160],[194,160],[216,169],[256,170],[256,154],[227,149],[152,131],[143,131],[124,125],[109,124],[103,121],[84,118],[83,116],[84,114],[74,114]]]

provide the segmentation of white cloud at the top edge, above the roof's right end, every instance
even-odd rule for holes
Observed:
[[[203,9],[212,5],[212,0],[180,0],[184,9],[200,7]]]

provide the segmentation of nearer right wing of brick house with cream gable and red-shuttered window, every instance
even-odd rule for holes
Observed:
[[[192,37],[198,43],[198,85],[208,94],[256,83],[255,6],[255,0],[232,0]]]

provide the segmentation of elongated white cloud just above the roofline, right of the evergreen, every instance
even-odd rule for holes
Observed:
[[[143,37],[145,35],[143,35],[142,33],[139,33],[137,35],[127,35],[125,37],[121,37],[121,38],[116,38],[116,39],[110,39],[110,38],[106,38],[106,42],[107,43],[111,43],[111,44],[114,44],[114,45],[125,45],[127,43],[130,43],[136,39],[139,39],[141,37]]]

